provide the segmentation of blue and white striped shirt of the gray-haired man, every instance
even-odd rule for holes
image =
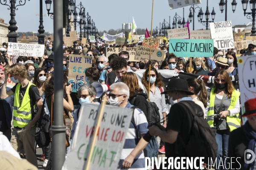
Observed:
[[[129,102],[125,106],[125,108],[132,108],[134,105],[131,105]],[[140,109],[134,109],[134,122],[136,127],[134,127],[133,123],[130,123],[130,127],[125,136],[125,144],[122,149],[118,169],[122,170],[122,163],[127,156],[131,153],[132,150],[137,146],[140,135],[148,132],[148,122],[145,114]],[[134,162],[131,165],[132,170],[145,170],[145,156],[143,151],[141,151],[135,158]]]

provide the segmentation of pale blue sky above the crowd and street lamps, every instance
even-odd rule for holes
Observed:
[[[9,3],[9,0],[7,1]],[[210,13],[214,7],[216,13],[214,20],[215,22],[225,20],[225,11],[221,13],[218,5],[219,1],[220,0],[209,0],[208,2]],[[232,11],[232,1],[233,0],[228,0],[227,2],[227,20],[231,20],[233,26],[249,23],[250,20],[244,17],[241,0],[236,0],[237,6],[235,13]],[[132,22],[132,17],[134,17],[137,28],[148,28],[148,30],[150,30],[152,0],[82,0],[81,2],[85,6],[85,11],[89,12],[89,15],[95,22],[98,31],[108,31],[111,28],[122,28],[122,23]],[[202,3],[198,6],[202,7],[203,12],[205,13],[207,0],[201,0],[201,2]],[[76,0],[76,5],[79,3],[80,0]],[[185,20],[187,20],[189,16],[189,7],[190,6],[185,7]],[[0,18],[3,18],[5,23],[9,23],[11,18],[9,15],[10,10],[7,8],[7,6],[0,4]],[[53,8],[53,6],[51,8]],[[171,16],[172,23],[175,12],[177,12],[180,17],[183,17],[182,8],[170,10],[168,0],[154,0],[153,28],[156,28],[156,26],[159,27],[159,23],[162,23],[163,19],[166,19],[169,22],[169,16]],[[247,6],[247,12],[251,12],[249,3]],[[47,14],[44,0],[43,13]],[[24,6],[18,6],[15,17],[17,26],[19,26],[18,31],[38,31],[39,16],[36,16],[36,14],[39,14],[39,0],[26,0],[26,4]],[[203,26],[201,23],[198,23],[198,9],[196,10],[195,14],[195,29],[205,29],[205,26]],[[50,19],[50,17],[44,17],[43,24],[45,31],[53,32],[53,20]],[[190,24],[190,27],[192,28],[192,23]]]

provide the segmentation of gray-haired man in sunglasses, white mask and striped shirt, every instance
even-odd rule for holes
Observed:
[[[121,108],[133,108],[128,102],[130,91],[123,82],[116,82],[110,86],[109,104]],[[148,132],[148,122],[145,114],[139,108],[134,108],[130,127],[125,136],[125,144],[122,149],[118,169],[141,170],[145,169],[145,156],[143,149],[148,142],[143,139]]]

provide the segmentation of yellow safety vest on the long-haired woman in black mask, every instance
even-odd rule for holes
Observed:
[[[209,101],[209,108],[207,112],[207,116],[213,115],[214,114],[214,100],[215,100],[215,93],[214,93],[214,88],[212,88],[211,94],[210,94],[210,101]],[[230,106],[227,110],[231,110],[235,107],[237,100],[239,99],[240,92],[233,90],[232,95],[231,95],[231,101],[230,101]],[[206,119],[207,123],[209,126],[213,126],[213,117],[208,117]],[[241,121],[239,119],[239,113],[237,113],[235,116],[227,116],[226,117],[226,122],[228,127],[230,128],[230,132],[235,130],[238,127],[241,127]]]

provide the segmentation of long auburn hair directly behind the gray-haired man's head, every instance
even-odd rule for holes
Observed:
[[[134,94],[135,90],[141,91],[136,74],[133,72],[127,72],[122,75],[122,82],[124,82],[130,89],[130,98]]]

